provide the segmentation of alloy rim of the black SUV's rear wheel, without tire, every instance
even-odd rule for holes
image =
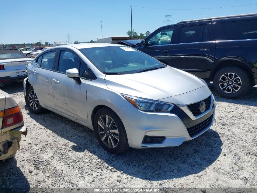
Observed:
[[[219,86],[225,93],[235,93],[242,85],[241,78],[232,72],[223,74],[219,80]]]

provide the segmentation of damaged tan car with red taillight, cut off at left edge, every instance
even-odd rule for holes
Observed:
[[[21,134],[27,135],[22,112],[6,92],[0,90],[0,160],[10,159],[15,156],[20,148]]]

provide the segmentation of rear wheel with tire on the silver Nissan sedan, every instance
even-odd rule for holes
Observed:
[[[32,113],[40,114],[45,111],[45,109],[40,105],[36,92],[32,86],[26,93],[25,102]]]

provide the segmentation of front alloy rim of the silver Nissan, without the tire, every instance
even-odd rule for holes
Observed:
[[[116,123],[108,115],[98,119],[97,129],[102,142],[109,148],[115,148],[119,142],[119,131]]]

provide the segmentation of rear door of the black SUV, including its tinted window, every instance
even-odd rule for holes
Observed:
[[[172,65],[200,78],[209,78],[214,66],[215,41],[210,24],[187,25],[180,29],[173,47]]]

